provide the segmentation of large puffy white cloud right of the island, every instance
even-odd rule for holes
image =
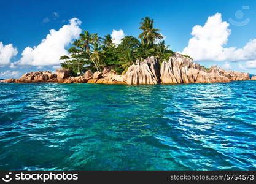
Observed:
[[[222,21],[222,15],[209,16],[204,26],[192,28],[192,38],[182,53],[196,61],[245,61],[256,59],[256,39],[249,40],[242,48],[225,47],[231,30]]]

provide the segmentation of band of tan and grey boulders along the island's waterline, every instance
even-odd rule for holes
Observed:
[[[168,61],[159,64],[158,59],[153,56],[144,61],[136,61],[128,68],[124,75],[118,75],[112,67],[106,67],[102,72],[92,73],[90,70],[79,77],[71,77],[68,69],[56,69],[56,72],[37,71],[28,72],[20,79],[4,79],[6,83],[103,83],[103,84],[177,84],[177,83],[227,83],[236,80],[251,79],[248,73],[226,71],[219,66],[211,66],[204,69],[200,64],[194,63],[192,59],[179,53],[174,54]]]

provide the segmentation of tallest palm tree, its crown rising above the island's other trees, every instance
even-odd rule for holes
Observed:
[[[160,29],[153,28],[153,19],[149,17],[142,18],[140,24],[139,29],[142,30],[142,33],[139,34],[139,39],[141,39],[142,44],[152,46],[157,40],[163,39],[163,36],[157,33]]]

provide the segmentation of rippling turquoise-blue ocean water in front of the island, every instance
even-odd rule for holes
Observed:
[[[0,83],[0,170],[256,170],[255,87]]]

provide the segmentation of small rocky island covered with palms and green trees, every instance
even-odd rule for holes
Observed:
[[[69,55],[60,57],[61,69],[56,72],[28,72],[20,79],[4,79],[7,83],[103,83],[103,84],[177,84],[227,83],[251,79],[248,73],[226,71],[219,66],[206,68],[194,63],[190,56],[173,52],[165,45],[160,29],[153,28],[153,19],[142,18],[138,39],[125,36],[116,45],[110,35],[83,31],[69,48]]]

